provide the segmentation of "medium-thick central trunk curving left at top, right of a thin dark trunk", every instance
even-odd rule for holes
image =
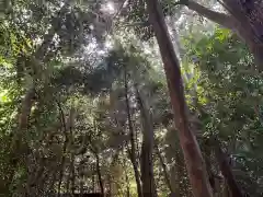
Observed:
[[[137,88],[136,88],[137,89]],[[141,146],[141,182],[144,197],[157,197],[155,176],[153,176],[153,125],[150,108],[147,106],[142,93],[136,90],[138,106],[142,125],[142,146]]]

